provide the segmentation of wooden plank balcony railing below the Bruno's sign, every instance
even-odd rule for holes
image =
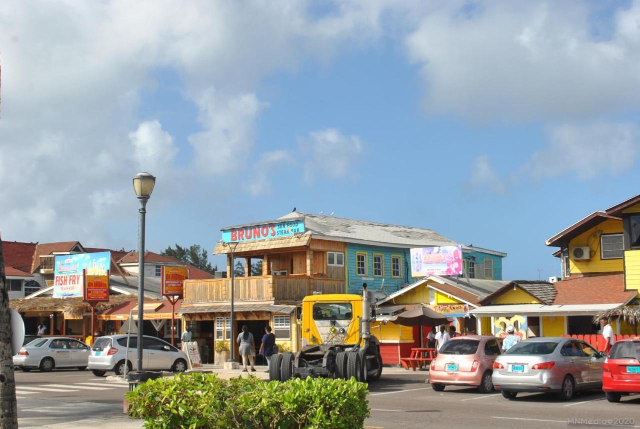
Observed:
[[[342,279],[317,279],[307,275],[262,275],[236,277],[234,302],[272,301],[300,302],[314,291],[321,293],[345,293]],[[184,303],[229,302],[231,279],[186,280]]]

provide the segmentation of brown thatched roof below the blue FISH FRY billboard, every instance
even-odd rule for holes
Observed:
[[[112,295],[109,302],[99,302],[95,306],[96,312],[102,312],[124,304],[125,302],[138,300],[138,295]],[[35,298],[19,298],[10,300],[9,307],[17,312],[26,311],[63,311],[74,316],[81,316],[85,312],[91,311],[88,302],[84,302],[82,298],[46,298],[36,296]]]

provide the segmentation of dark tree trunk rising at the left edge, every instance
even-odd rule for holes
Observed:
[[[0,239],[0,428],[18,427],[18,409],[15,400],[15,377],[13,376],[13,353],[11,346],[11,313],[9,294],[4,277],[4,257]]]

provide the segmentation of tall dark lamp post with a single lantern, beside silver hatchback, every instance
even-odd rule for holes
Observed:
[[[149,173],[133,176],[133,188],[140,201],[138,209],[138,371],[142,371],[143,321],[145,314],[145,215],[147,201],[156,184],[156,177]]]

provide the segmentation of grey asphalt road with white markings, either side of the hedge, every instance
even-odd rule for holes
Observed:
[[[365,422],[367,427],[554,429],[567,426],[569,419],[627,419],[623,427],[640,428],[640,395],[625,397],[617,404],[609,403],[597,391],[578,394],[568,402],[545,394],[519,394],[515,400],[506,400],[500,393],[479,394],[466,387],[447,387],[438,393],[424,382],[426,378],[428,372],[383,371],[378,382],[369,384],[371,417]],[[122,419],[126,384],[107,382],[90,371],[77,369],[17,371],[16,380],[21,428],[88,417],[113,423]]]

